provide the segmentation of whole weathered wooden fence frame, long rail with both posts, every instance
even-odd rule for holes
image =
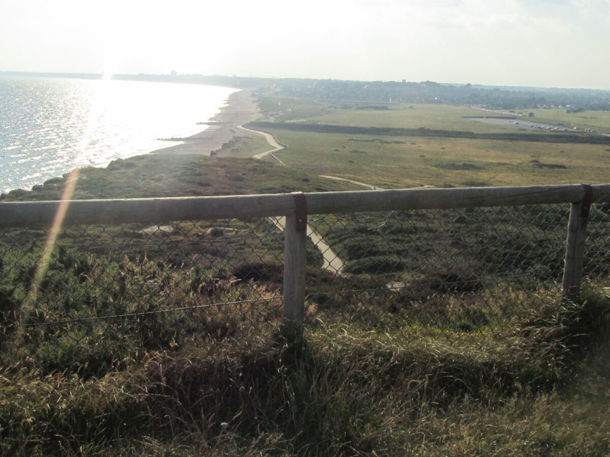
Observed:
[[[596,202],[610,202],[610,184],[0,202],[0,228],[45,227],[64,212],[57,221],[63,225],[286,216],[283,321],[293,341],[303,333],[307,214],[570,203],[563,289],[574,297],[582,277],[587,214]]]

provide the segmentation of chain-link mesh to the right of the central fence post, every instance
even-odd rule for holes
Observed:
[[[609,277],[608,205],[591,208],[584,275]],[[510,331],[561,294],[570,204],[310,216],[310,326],[455,338]],[[315,240],[314,240],[315,241]]]

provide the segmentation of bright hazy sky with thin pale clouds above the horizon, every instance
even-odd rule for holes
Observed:
[[[610,90],[610,0],[2,0],[0,71]]]

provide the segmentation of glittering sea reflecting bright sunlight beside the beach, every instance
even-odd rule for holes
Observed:
[[[235,89],[0,76],[0,191],[173,146],[205,130]]]

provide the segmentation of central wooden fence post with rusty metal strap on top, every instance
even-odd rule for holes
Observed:
[[[293,193],[296,211],[286,216],[284,227],[284,306],[282,336],[289,344],[303,337],[307,208],[303,193]]]

